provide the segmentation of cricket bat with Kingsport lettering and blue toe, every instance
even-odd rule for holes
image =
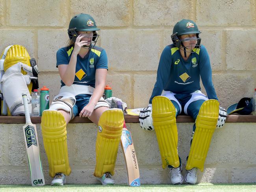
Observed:
[[[122,103],[117,102],[117,108],[122,109]],[[141,181],[139,178],[139,166],[137,161],[137,156],[134,149],[134,144],[132,142],[132,135],[124,122],[121,136],[121,146],[122,152],[124,154],[124,161],[126,165],[126,172],[128,177],[129,186],[141,186]]]

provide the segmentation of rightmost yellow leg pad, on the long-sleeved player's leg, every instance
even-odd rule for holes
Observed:
[[[205,101],[196,119],[196,130],[193,135],[186,170],[195,167],[201,171],[204,170],[204,161],[210,147],[211,137],[215,131],[218,117],[219,102],[212,99]]]

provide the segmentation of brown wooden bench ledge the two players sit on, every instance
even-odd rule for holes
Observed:
[[[126,123],[139,123],[139,116],[125,115],[124,120]],[[41,123],[41,117],[31,117],[32,123]],[[178,123],[191,123],[195,122],[193,118],[187,115],[179,115],[176,118]],[[256,122],[256,115],[228,115],[226,118],[227,123],[241,123],[241,122]],[[0,123],[25,123],[24,116],[0,116]],[[70,123],[92,123],[88,118],[75,117]]]

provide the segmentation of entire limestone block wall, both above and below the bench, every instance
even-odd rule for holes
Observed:
[[[97,45],[108,54],[107,84],[113,88],[113,95],[129,108],[145,107],[156,81],[161,52],[172,43],[174,24],[182,18],[192,19],[202,31],[217,96],[226,108],[242,97],[251,97],[256,88],[255,8],[255,0],[0,0],[0,51],[11,44],[25,46],[41,70],[39,86],[50,88],[52,101],[60,87],[56,52],[67,45],[72,16],[88,13],[101,29]],[[0,124],[0,183],[30,183],[21,126]],[[178,126],[185,135],[179,140],[185,160],[192,124]],[[128,127],[138,132],[134,134],[137,147],[143,146],[136,147],[143,183],[168,183],[168,170],[161,169],[155,133],[143,132],[138,124]],[[254,128],[255,124],[230,123],[217,130],[199,181],[255,182]],[[73,172],[67,181],[95,183],[95,125],[70,124],[68,132]],[[48,175],[42,142],[41,151]],[[119,150],[117,183],[125,183],[123,163]],[[156,180],[152,180],[155,174]]]

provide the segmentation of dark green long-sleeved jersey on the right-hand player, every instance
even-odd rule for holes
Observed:
[[[194,49],[187,61],[180,54],[174,44],[164,48],[159,65],[156,83],[149,103],[155,96],[161,95],[163,90],[174,93],[189,94],[200,90],[200,77],[209,99],[216,99],[217,95],[211,80],[211,64],[206,48]]]

